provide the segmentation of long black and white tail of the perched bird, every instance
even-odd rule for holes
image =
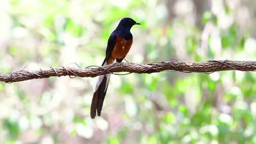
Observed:
[[[106,59],[102,65],[107,65]],[[101,110],[108,89],[109,79],[110,74],[97,76],[97,81],[94,86],[94,96],[91,101],[91,118],[95,118],[96,111],[98,116],[101,116]]]

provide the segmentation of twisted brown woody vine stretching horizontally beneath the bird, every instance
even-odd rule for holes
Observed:
[[[94,67],[94,68],[93,68]],[[74,67],[51,67],[48,69],[39,69],[33,71],[19,70],[14,73],[0,73],[0,81],[6,83],[26,81],[31,79],[43,79],[50,76],[79,76],[79,77],[95,77],[118,72],[150,74],[159,73],[160,71],[183,71],[185,73],[213,73],[214,71],[224,70],[240,70],[254,71],[256,70],[256,62],[254,61],[207,61],[207,62],[189,62],[170,59],[164,62],[155,62],[150,64],[136,63],[113,63],[103,67],[90,66],[88,68]]]

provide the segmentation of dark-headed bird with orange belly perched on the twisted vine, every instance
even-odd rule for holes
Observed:
[[[134,25],[141,25],[130,17],[121,19],[117,28],[110,34],[108,38],[106,57],[101,66],[112,64],[114,60],[118,63],[125,59],[132,45],[131,27]],[[126,59],[125,59],[126,61]],[[126,61],[127,62],[127,61]],[[110,74],[97,76],[96,83],[93,88],[94,95],[91,100],[91,118],[95,118],[96,112],[101,116],[103,101],[108,89]]]

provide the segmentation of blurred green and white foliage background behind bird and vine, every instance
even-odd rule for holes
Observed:
[[[123,17],[126,59],[256,60],[253,0],[1,0],[0,71],[101,65]],[[256,73],[112,75],[90,118],[91,77],[0,83],[0,143],[256,143]]]

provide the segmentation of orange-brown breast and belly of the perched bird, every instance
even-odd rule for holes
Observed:
[[[131,45],[132,45],[132,39],[125,40],[124,38],[121,38],[119,37],[119,35],[117,35],[114,49],[108,58],[108,64],[113,63],[116,58],[118,59],[124,58],[129,52]]]

